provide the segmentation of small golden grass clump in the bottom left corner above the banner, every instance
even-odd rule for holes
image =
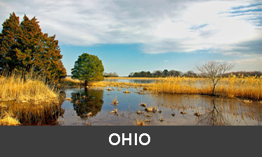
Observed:
[[[20,122],[14,117],[12,113],[3,111],[0,115],[0,126],[20,126]]]

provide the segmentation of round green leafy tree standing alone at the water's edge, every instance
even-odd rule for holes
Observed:
[[[81,54],[71,70],[72,78],[85,80],[85,87],[88,82],[103,80],[103,63],[99,57],[92,54]]]

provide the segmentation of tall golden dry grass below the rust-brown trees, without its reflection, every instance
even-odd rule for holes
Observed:
[[[24,81],[22,75],[12,74],[0,77],[0,100],[19,101],[22,103],[41,103],[59,100],[59,94],[54,86],[44,83],[43,77],[27,75]]]

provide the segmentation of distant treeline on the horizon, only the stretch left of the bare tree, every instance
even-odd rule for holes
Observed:
[[[150,71],[140,71],[135,73],[130,73],[129,77],[167,77],[167,76],[187,76],[196,77],[197,74],[193,70],[189,70],[186,73],[178,70],[154,70],[152,73]]]

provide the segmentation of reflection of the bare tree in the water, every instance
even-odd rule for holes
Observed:
[[[225,117],[221,110],[217,109],[217,105],[214,103],[214,98],[212,98],[212,110],[205,112],[201,117],[196,117],[196,125],[206,125],[206,126],[230,126],[231,124]]]

